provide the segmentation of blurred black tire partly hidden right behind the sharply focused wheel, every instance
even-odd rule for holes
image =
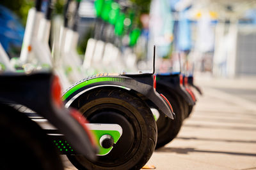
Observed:
[[[174,96],[164,89],[157,89],[157,92],[163,94],[170,104],[172,105],[173,111],[175,113],[175,119],[172,120],[165,117],[163,114],[159,115],[157,119],[157,144],[156,149],[163,147],[164,145],[170,143],[177,134],[179,134],[180,128],[182,127],[182,122],[184,120],[184,108],[182,103],[177,96]]]

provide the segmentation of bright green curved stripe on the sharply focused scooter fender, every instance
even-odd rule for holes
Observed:
[[[124,78],[118,78],[118,77],[99,77],[99,78],[92,78],[90,80],[84,80],[82,83],[77,84],[76,86],[69,89],[63,96],[62,100],[65,101],[68,96],[70,96],[72,93],[76,92],[76,90],[81,89],[82,87],[86,85],[90,85],[92,83],[102,82],[102,81],[116,81],[116,82],[123,82]]]

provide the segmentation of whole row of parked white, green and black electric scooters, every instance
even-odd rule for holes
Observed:
[[[59,154],[77,169],[140,169],[155,148],[177,136],[193,110],[191,87],[200,92],[193,75],[155,73],[154,47],[150,72],[81,78],[99,49],[105,62],[121,52],[111,42],[90,39],[82,64],[75,53],[77,12],[71,27],[67,17],[79,1],[70,0],[50,50],[52,4],[43,13],[36,0],[29,10],[19,59],[10,60],[0,48],[1,169],[63,169]],[[67,89],[62,95],[61,87]]]

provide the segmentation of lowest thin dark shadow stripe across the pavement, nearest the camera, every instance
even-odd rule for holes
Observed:
[[[241,153],[241,152],[222,152],[222,151],[212,151],[212,150],[198,150],[195,148],[160,148],[155,152],[175,152],[180,154],[188,154],[190,152],[200,152],[200,153],[223,153],[228,155],[240,155],[240,156],[248,156],[248,157],[255,157],[256,153]]]

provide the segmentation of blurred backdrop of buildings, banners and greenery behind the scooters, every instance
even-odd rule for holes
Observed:
[[[52,18],[63,15],[65,2],[54,2]],[[19,57],[34,1],[1,0],[0,4],[0,42],[10,58]],[[78,16],[77,53],[81,59],[88,39],[110,42],[128,62],[116,71],[151,69],[156,45],[157,71],[161,73],[180,71],[181,62],[184,73],[195,70],[228,78],[256,74],[253,0],[83,0]]]

